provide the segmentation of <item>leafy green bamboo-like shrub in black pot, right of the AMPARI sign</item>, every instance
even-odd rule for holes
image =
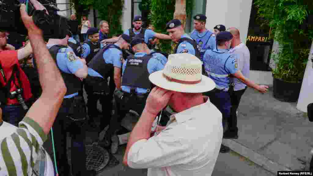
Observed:
[[[258,15],[272,29],[271,38],[279,43],[271,53],[273,96],[281,101],[298,100],[301,82],[313,39],[312,0],[255,0]],[[312,17],[310,17],[312,18]]]

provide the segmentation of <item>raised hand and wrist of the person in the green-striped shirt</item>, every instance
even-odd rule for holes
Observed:
[[[34,0],[36,1],[36,0]],[[38,1],[36,1],[38,2]],[[33,3],[33,2],[32,2]],[[39,3],[40,4],[40,3]],[[20,12],[21,12],[21,18],[22,21],[26,27],[26,29],[28,30],[28,34],[38,34],[38,35],[42,35],[42,30],[39,29],[35,23],[33,22],[33,17],[32,16],[28,16],[27,12],[26,12],[26,6],[25,4],[21,4],[20,7]]]

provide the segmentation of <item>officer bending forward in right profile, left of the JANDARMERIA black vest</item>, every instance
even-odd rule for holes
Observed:
[[[108,88],[107,79],[114,80],[116,89],[121,89],[122,49],[129,49],[131,39],[122,34],[115,44],[108,44],[88,63],[88,67],[99,73],[103,79],[95,76],[87,77],[85,90],[88,95],[87,107],[90,123],[97,116],[97,101],[100,98],[102,104],[102,118],[100,120],[100,132],[109,124],[112,113],[112,99],[114,90]],[[100,85],[99,85],[100,84]],[[115,87],[114,87],[115,89]]]

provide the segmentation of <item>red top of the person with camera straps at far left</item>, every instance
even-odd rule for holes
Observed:
[[[17,50],[5,50],[0,52],[0,64],[3,68],[4,75],[6,78],[6,81],[4,81],[3,76],[0,74],[0,82],[1,86],[4,86],[7,84],[7,81],[10,79],[12,72],[13,72],[13,66],[16,64],[18,67],[18,70],[20,72],[19,77],[22,83],[22,89],[23,89],[23,98],[25,101],[27,101],[29,98],[33,96],[30,88],[30,83],[29,80],[24,73],[24,71],[21,69],[19,63],[18,63],[18,51]],[[15,84],[20,86],[18,84],[18,79],[15,77],[14,80]],[[10,92],[16,90],[16,86],[11,82],[11,89]],[[18,100],[16,98],[10,99],[8,98],[7,105],[12,105],[12,104],[18,104]]]

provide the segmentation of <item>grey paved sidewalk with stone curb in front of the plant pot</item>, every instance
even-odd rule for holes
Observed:
[[[313,100],[312,100],[313,102]],[[262,95],[248,88],[238,108],[239,138],[223,144],[252,162],[277,174],[304,170],[313,148],[313,123],[296,103],[278,101],[273,87]]]

